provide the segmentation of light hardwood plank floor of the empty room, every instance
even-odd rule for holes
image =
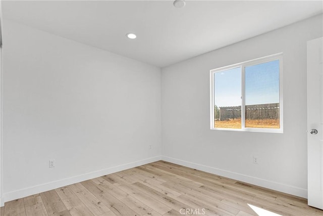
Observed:
[[[257,215],[248,204],[281,215],[323,215],[306,203],[304,198],[157,161],[6,202],[1,215]]]

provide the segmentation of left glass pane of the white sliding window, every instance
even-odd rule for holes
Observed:
[[[241,128],[241,67],[214,73],[214,127]]]

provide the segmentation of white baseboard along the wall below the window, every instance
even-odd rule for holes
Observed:
[[[295,186],[286,185],[286,184],[282,184],[279,182],[272,182],[272,181],[268,181],[265,179],[259,179],[256,177],[239,174],[237,172],[232,172],[232,171],[219,169],[219,168],[215,168],[215,167],[211,167],[211,166],[206,166],[206,165],[202,165],[202,164],[198,164],[198,163],[192,163],[192,162],[188,162],[185,160],[180,160],[180,159],[176,159],[176,158],[172,158],[172,157],[161,156],[161,159],[165,160],[167,162],[176,163],[176,164],[179,164],[182,166],[187,166],[190,168],[209,172],[211,174],[227,177],[230,179],[238,180],[238,181],[249,183],[252,185],[257,185],[260,187],[280,191],[283,193],[307,198],[307,189],[298,188]]]

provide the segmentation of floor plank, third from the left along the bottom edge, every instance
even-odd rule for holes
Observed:
[[[55,190],[40,193],[41,199],[45,205],[48,215],[69,215],[70,212],[62,202]]]

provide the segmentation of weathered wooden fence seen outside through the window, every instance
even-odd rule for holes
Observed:
[[[279,103],[246,106],[246,119],[279,119]],[[241,106],[219,107],[220,121],[241,118]]]

